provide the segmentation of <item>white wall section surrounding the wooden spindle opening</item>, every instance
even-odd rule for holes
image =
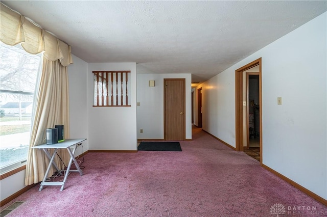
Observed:
[[[93,107],[92,71],[131,71],[130,107]],[[89,63],[87,72],[89,150],[137,150],[136,63]]]

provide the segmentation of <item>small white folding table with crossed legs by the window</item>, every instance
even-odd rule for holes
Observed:
[[[61,185],[60,191],[62,191],[63,188],[64,188],[64,185],[65,185],[65,182],[67,180],[67,176],[68,176],[69,172],[79,172],[81,176],[83,175],[83,172],[82,172],[81,168],[78,166],[78,163],[77,163],[77,161],[75,159],[74,153],[75,153],[75,150],[76,150],[77,146],[79,146],[85,140],[86,139],[65,139],[64,141],[62,141],[60,143],[56,143],[56,144],[42,144],[42,145],[37,145],[37,146],[32,147],[32,148],[35,148],[35,149],[42,149],[44,151],[45,155],[48,156],[48,158],[50,159],[48,169],[46,169],[46,172],[45,172],[44,178],[43,178],[43,180],[41,182],[41,186],[39,188],[39,191],[42,190],[44,185]],[[48,151],[49,148],[54,149],[54,152],[53,152],[52,155]],[[55,159],[57,150],[58,149],[64,149],[64,148],[67,149],[69,155],[71,156],[71,159],[69,159],[69,163],[68,163],[66,174],[64,176],[63,181],[61,181],[61,182],[46,181],[46,177],[48,176],[48,173],[49,173],[50,168],[51,168],[52,165],[56,168],[58,173],[61,173],[58,166],[57,166],[57,164],[56,164],[56,162],[54,161],[54,159]],[[71,170],[72,162],[74,162],[77,170]]]

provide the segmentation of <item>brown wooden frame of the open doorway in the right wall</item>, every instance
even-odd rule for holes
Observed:
[[[260,164],[262,165],[262,82],[261,69],[262,58],[252,61],[251,63],[235,70],[235,143],[236,151],[243,151],[243,72],[254,66],[259,65],[259,123],[260,123]]]

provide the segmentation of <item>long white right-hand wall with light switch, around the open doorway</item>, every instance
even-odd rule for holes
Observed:
[[[262,57],[263,164],[324,199],[326,26],[323,13],[200,85],[203,129],[235,147],[235,70]]]

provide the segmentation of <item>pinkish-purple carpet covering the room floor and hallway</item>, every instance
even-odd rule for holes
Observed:
[[[327,207],[194,129],[181,152],[88,153],[83,176],[39,184],[6,216],[327,216]],[[282,206],[285,212],[271,212]],[[289,210],[291,209],[291,210]],[[282,210],[282,211],[283,211]]]

